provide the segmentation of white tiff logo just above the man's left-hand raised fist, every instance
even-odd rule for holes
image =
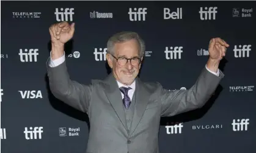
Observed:
[[[57,21],[73,21],[73,15],[75,14],[73,12],[74,8],[66,8],[65,12],[63,12],[63,10],[64,10],[63,8],[60,8],[61,12],[59,12],[58,8],[55,9],[54,14],[56,15],[56,20]],[[64,15],[65,15],[65,18],[64,18]],[[69,19],[68,16],[70,20],[68,20]]]

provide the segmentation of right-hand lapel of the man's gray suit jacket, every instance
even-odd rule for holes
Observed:
[[[134,132],[139,121],[141,121],[142,115],[148,104],[148,99],[150,98],[150,92],[144,87],[143,82],[139,78],[136,79],[136,89],[134,93],[135,98],[135,108],[133,114],[133,120],[131,121],[130,135]]]

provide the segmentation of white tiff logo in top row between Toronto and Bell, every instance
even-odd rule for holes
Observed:
[[[130,21],[141,21],[141,18],[142,18],[142,21],[146,20],[145,18],[147,14],[146,12],[147,8],[139,8],[139,9],[134,8],[133,10],[132,8],[129,8],[128,14],[130,16]]]

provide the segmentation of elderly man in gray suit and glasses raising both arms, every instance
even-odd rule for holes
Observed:
[[[161,116],[202,107],[224,77],[218,66],[229,44],[213,38],[209,60],[188,90],[169,91],[158,82],[142,82],[137,74],[144,56],[144,41],[135,32],[120,32],[107,44],[106,59],[112,73],[104,80],[79,84],[70,80],[64,53],[64,44],[73,37],[75,24],[56,23],[49,27],[49,32],[49,86],[56,98],[88,114],[88,153],[159,152]]]

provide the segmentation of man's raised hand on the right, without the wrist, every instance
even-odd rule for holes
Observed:
[[[221,60],[226,54],[227,44],[221,38],[212,38],[209,44],[209,55],[211,60]]]

